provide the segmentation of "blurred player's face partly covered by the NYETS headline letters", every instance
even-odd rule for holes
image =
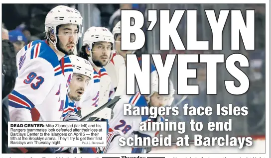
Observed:
[[[159,95],[158,92],[154,92],[150,96],[149,105],[156,107],[165,106],[169,99],[170,98],[167,95]]]

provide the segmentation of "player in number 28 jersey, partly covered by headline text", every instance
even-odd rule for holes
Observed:
[[[124,134],[133,137],[136,133],[139,137],[154,137],[158,134],[156,131],[139,131],[139,123],[150,119],[149,116],[124,116],[124,103],[129,103],[138,107],[151,107],[151,106],[170,106],[173,102],[174,87],[169,80],[169,95],[158,94],[158,75],[157,73],[151,74],[151,93],[150,95],[141,95],[140,92],[136,92],[135,95],[124,95],[121,100],[115,105],[113,112],[114,118],[109,121],[111,128],[115,130],[121,130]],[[133,109],[133,108],[132,108]],[[152,121],[164,121],[163,116],[157,116]],[[136,149],[142,150],[142,149]],[[141,153],[141,151],[134,150],[133,153]],[[132,150],[131,150],[132,151]],[[118,153],[116,151],[116,153]]]

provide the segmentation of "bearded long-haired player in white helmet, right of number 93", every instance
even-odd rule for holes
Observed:
[[[104,68],[113,55],[114,37],[105,27],[90,27],[84,34],[80,57],[88,60],[94,69],[94,84],[88,88],[77,110],[84,106],[97,107],[99,103],[100,77],[108,75]],[[110,96],[114,94],[111,88]]]

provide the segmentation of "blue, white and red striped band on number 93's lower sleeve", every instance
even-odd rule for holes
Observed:
[[[26,109],[32,109],[35,107],[35,105],[24,95],[20,94],[16,90],[12,90],[10,94],[13,94],[16,99],[8,99],[8,104],[14,108],[26,108]],[[22,106],[21,104],[25,104],[24,102],[28,103],[30,107]]]

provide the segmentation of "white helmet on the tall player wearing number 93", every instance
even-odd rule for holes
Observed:
[[[45,32],[47,35],[48,31],[53,30],[54,33],[57,32],[56,27],[62,24],[77,24],[78,25],[78,38],[82,36],[83,27],[82,27],[83,18],[80,12],[75,9],[65,5],[58,5],[51,9],[45,18]],[[50,39],[50,38],[49,38]],[[52,42],[52,41],[51,41]],[[53,43],[56,43],[55,40]],[[78,42],[78,39],[77,39]]]

